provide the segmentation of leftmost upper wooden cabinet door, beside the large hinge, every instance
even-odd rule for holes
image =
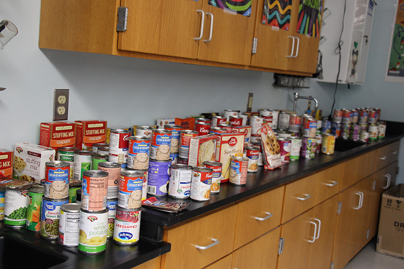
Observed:
[[[203,13],[192,0],[122,0],[128,8],[127,30],[119,32],[118,48],[182,58],[197,58]]]

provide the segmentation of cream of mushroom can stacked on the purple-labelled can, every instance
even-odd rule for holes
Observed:
[[[150,143],[151,159],[170,159],[171,133],[170,130],[153,129]]]

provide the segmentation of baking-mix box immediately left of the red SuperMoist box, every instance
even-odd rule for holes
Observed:
[[[216,159],[216,140],[214,135],[191,137],[189,140],[188,165],[203,167],[204,162]]]

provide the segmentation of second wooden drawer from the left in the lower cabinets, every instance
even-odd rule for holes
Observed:
[[[238,204],[234,248],[279,226],[284,187],[260,194]]]

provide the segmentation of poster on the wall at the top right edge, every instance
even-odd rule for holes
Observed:
[[[404,83],[404,0],[397,0],[391,25],[385,81]]]

